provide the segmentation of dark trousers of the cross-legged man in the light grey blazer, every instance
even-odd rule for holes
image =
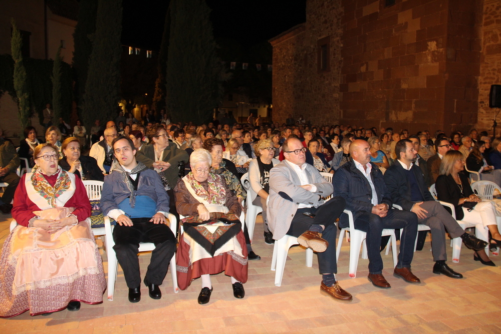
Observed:
[[[345,199],[338,196],[331,198],[318,208],[298,209],[287,232],[288,235],[298,237],[307,231],[311,225],[325,226],[322,238],[329,242],[329,247],[325,252],[317,253],[318,269],[321,274],[337,273],[338,271],[336,263],[336,219],[343,212],[345,206]],[[314,213],[315,218],[304,215],[304,212]]]

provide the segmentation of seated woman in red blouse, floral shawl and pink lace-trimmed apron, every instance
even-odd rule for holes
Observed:
[[[23,175],[0,266],[0,316],[31,315],[98,304],[106,289],[91,232],[91,205],[82,181],[58,166],[50,143],[34,150],[35,172]]]

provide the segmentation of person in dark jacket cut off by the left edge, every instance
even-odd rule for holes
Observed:
[[[2,163],[0,167],[0,182],[6,182],[9,185],[0,200],[0,211],[8,214],[11,213],[11,202],[20,180],[18,174],[16,174],[20,160],[12,142],[5,139],[2,135],[3,130],[0,129],[0,162]]]

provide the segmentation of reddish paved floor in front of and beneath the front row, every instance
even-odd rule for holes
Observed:
[[[0,213],[0,243],[9,233],[11,217]],[[415,253],[413,272],[421,279],[408,284],[392,275],[391,254],[384,255],[383,274],[391,289],[378,289],[367,281],[367,260],[360,259],[357,277],[348,277],[349,243],[344,242],[337,278],[353,294],[353,301],[340,302],[319,292],[321,276],[316,256],[313,268],[305,266],[305,251],[289,251],[281,287],[274,285],[270,270],[273,246],[265,244],[261,217],[256,224],[254,250],[261,261],[250,261],[245,298],[235,299],[230,279],[212,277],[211,301],[199,305],[196,297],[200,281],[174,294],[170,274],[161,286],[160,300],[148,297],[131,304],[119,268],[115,299],[100,305],[85,305],[77,312],[63,310],[50,316],[30,316],[28,312],[0,319],[0,334],[56,333],[501,333],[501,270],[473,261],[472,252],[462,248],[459,263],[450,263],[465,278],[451,279],[431,272],[429,240]],[[98,241],[100,243],[100,241]],[[448,251],[451,253],[450,250]],[[144,274],[149,254],[140,255]],[[106,252],[103,252],[107,271]],[[501,265],[501,259],[491,256]],[[170,270],[170,268],[169,268]]]

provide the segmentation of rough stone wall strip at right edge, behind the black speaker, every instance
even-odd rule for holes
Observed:
[[[484,0],[481,34],[477,126],[490,129],[494,118],[494,110],[489,108],[490,85],[501,85],[501,2],[499,0]],[[501,123],[501,117],[498,117],[497,121]],[[499,130],[501,130],[501,125],[496,130],[498,136]],[[489,131],[489,135],[491,133]]]

